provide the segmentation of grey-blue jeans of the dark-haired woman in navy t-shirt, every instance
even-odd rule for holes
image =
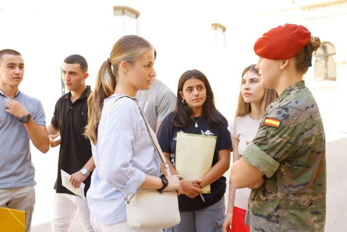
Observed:
[[[180,211],[181,222],[164,232],[223,232],[225,219],[224,197],[202,210]]]

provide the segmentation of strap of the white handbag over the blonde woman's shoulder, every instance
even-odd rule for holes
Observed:
[[[161,167],[161,171],[162,171],[162,173],[163,173],[164,175],[166,175],[166,176],[167,176],[167,175],[171,175],[171,172],[170,172],[170,169],[169,169],[169,165],[168,165],[168,163],[167,163],[167,161],[166,161],[166,158],[165,158],[165,156],[164,156],[164,154],[163,154],[162,149],[160,148],[160,145],[159,145],[158,140],[157,140],[157,136],[155,135],[155,133],[154,133],[154,131],[152,130],[152,128],[149,127],[148,121],[146,120],[146,117],[145,117],[145,115],[143,114],[143,111],[142,111],[141,106],[140,106],[140,104],[138,103],[137,99],[136,99],[136,98],[129,97],[129,96],[126,96],[126,95],[119,95],[119,96],[116,97],[116,100],[111,104],[109,112],[111,111],[111,107],[113,106],[113,104],[114,104],[118,99],[124,98],[124,97],[125,97],[125,98],[130,98],[130,99],[132,99],[132,100],[136,103],[136,105],[138,106],[138,108],[139,108],[139,110],[140,110],[140,114],[141,114],[141,116],[142,116],[142,118],[143,118],[143,120],[144,120],[144,122],[145,122],[145,124],[146,124],[146,128],[147,128],[147,131],[148,131],[148,133],[149,133],[149,137],[151,138],[152,143],[153,143],[154,147],[155,147],[156,150],[157,150],[157,153],[158,153],[158,155],[159,155],[159,158],[160,158],[160,160],[161,160],[162,163],[163,163],[164,169],[162,169],[162,167]]]

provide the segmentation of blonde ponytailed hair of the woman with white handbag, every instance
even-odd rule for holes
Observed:
[[[88,124],[84,133],[93,144],[98,139],[98,124],[104,99],[115,92],[119,64],[122,61],[133,64],[143,53],[151,49],[154,49],[153,46],[140,36],[123,36],[113,46],[110,58],[101,64],[95,80],[95,89],[88,97]]]

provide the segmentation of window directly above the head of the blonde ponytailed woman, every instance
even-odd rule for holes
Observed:
[[[140,12],[128,6],[118,5],[113,7],[113,14],[116,18],[116,34],[138,35],[138,18]]]

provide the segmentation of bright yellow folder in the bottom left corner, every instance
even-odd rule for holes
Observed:
[[[25,232],[25,211],[0,207],[0,231]]]

